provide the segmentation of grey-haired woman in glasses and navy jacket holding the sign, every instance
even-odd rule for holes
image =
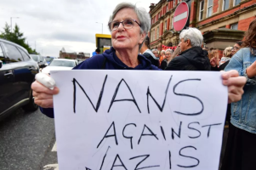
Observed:
[[[137,8],[131,3],[118,4],[109,20],[113,47],[104,54],[85,60],[74,67],[74,70],[158,70],[148,59],[139,54],[139,45],[144,41],[150,26],[151,18],[144,8]],[[229,101],[241,99],[245,79],[237,76],[237,71],[222,75],[223,84],[229,87]],[[51,90],[39,82],[33,82],[31,88],[35,103],[41,106],[41,111],[47,116],[54,117],[53,95],[59,93],[59,88],[55,87]]]

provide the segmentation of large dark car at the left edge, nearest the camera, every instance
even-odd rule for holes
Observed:
[[[0,120],[19,107],[37,110],[31,83],[38,71],[25,48],[0,38]]]

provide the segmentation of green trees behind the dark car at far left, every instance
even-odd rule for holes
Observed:
[[[10,42],[14,42],[22,46],[23,48],[26,48],[29,54],[38,54],[35,49],[32,49],[27,43],[26,43],[26,37],[23,37],[23,33],[20,32],[20,27],[15,24],[14,30],[11,31],[10,26],[5,23],[5,26],[3,27],[3,31],[1,31],[0,37],[8,40]]]

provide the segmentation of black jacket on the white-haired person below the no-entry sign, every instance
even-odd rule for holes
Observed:
[[[170,61],[166,71],[211,71],[208,52],[200,47],[185,50]]]

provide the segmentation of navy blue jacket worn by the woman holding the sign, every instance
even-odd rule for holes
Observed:
[[[145,56],[139,54],[138,59],[139,65],[134,68],[128,67],[128,65],[125,65],[120,59],[118,59],[116,55],[116,50],[114,48],[111,48],[105,50],[104,54],[97,54],[89,59],[86,59],[79,65],[75,66],[73,70],[160,70],[155,65],[151,65],[151,61],[145,59]],[[40,110],[44,115],[54,118],[53,108],[45,109],[40,107]]]

